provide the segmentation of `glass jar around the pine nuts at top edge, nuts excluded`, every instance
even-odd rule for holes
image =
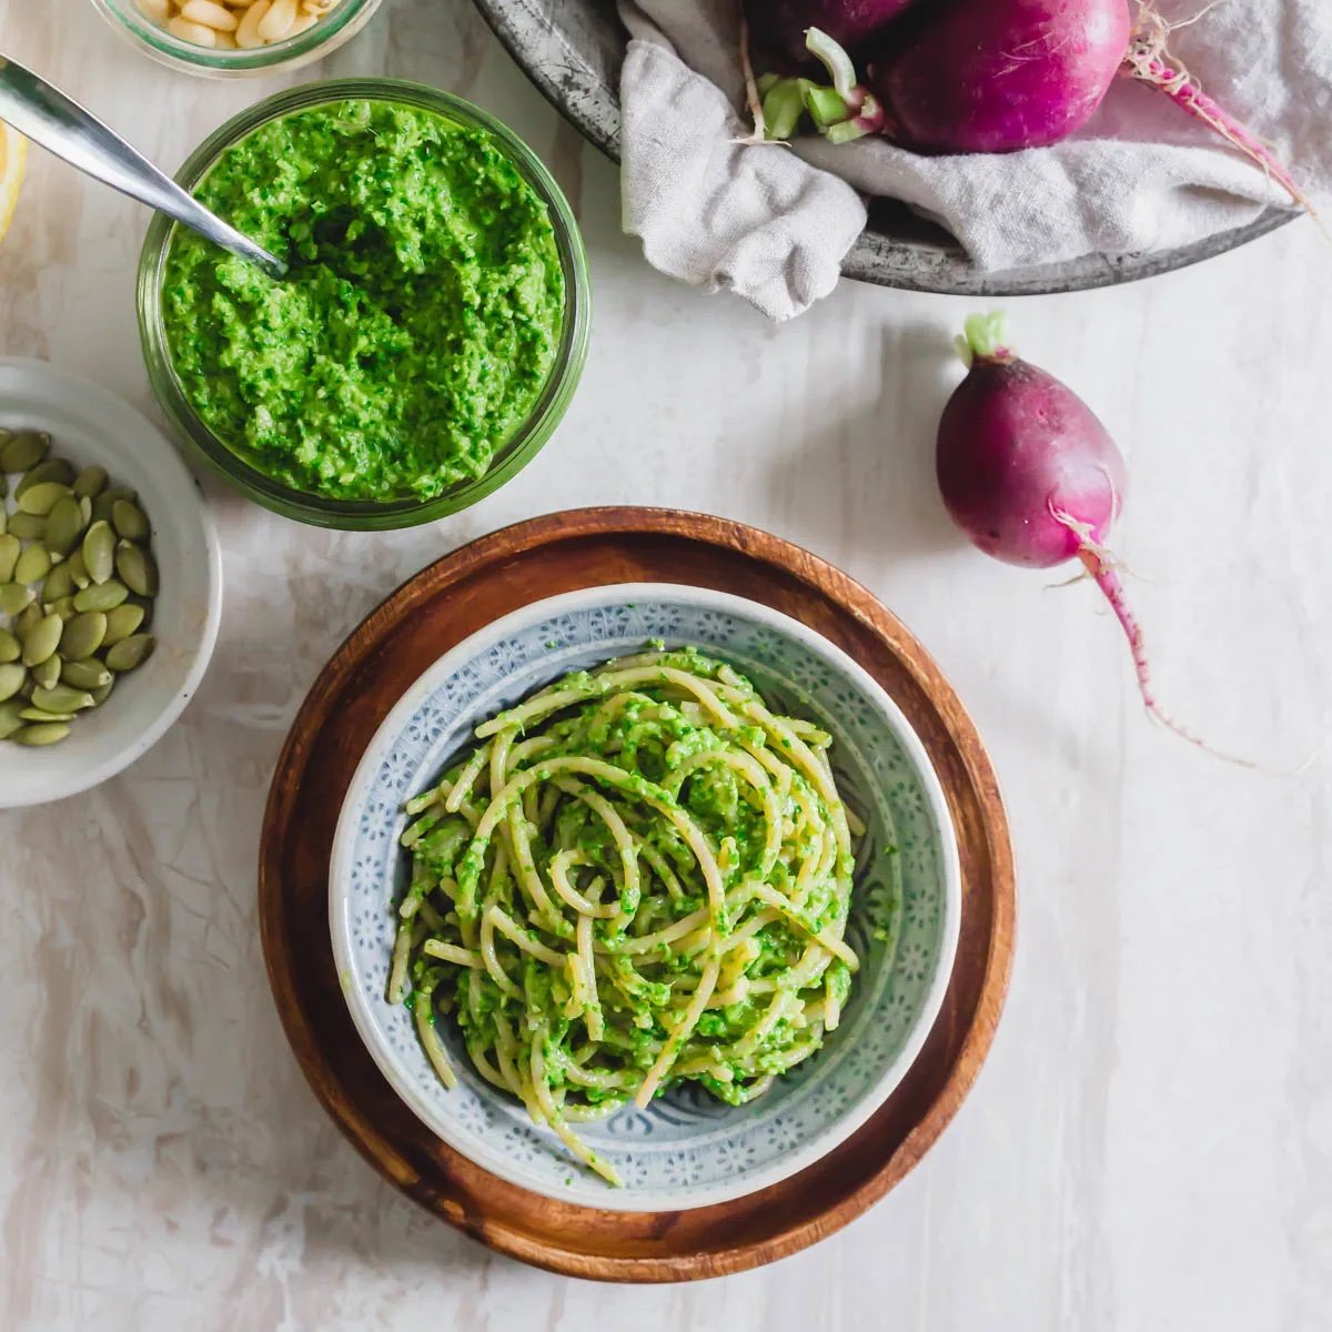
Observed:
[[[92,0],[92,4],[112,28],[153,60],[205,79],[234,79],[278,68],[298,69],[321,60],[365,27],[381,0],[338,0],[305,32],[253,51],[218,51],[182,41],[144,13],[137,0]]]

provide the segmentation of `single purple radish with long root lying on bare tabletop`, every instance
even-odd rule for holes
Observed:
[[[958,338],[968,373],[939,421],[944,506],[995,559],[1027,569],[1080,561],[1128,638],[1147,711],[1209,749],[1156,701],[1143,631],[1106,549],[1123,505],[1123,456],[1072,389],[1012,350],[1006,322],[1002,313],[975,314]]]

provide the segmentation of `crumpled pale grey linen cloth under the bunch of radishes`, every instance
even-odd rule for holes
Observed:
[[[1159,0],[1169,49],[1332,197],[1332,0]],[[1188,245],[1291,198],[1257,165],[1122,77],[1072,139],[1002,156],[919,157],[882,139],[742,145],[735,0],[619,0],[625,230],[649,262],[787,320],[832,290],[884,194],[951,232],[982,269]],[[1188,21],[1193,20],[1193,21]]]

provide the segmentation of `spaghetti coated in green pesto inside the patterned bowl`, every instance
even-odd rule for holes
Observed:
[[[389,998],[445,1086],[452,1015],[614,1184],[571,1124],[685,1080],[742,1104],[838,1024],[855,819],[831,738],[694,649],[566,675],[476,734],[408,805]]]

